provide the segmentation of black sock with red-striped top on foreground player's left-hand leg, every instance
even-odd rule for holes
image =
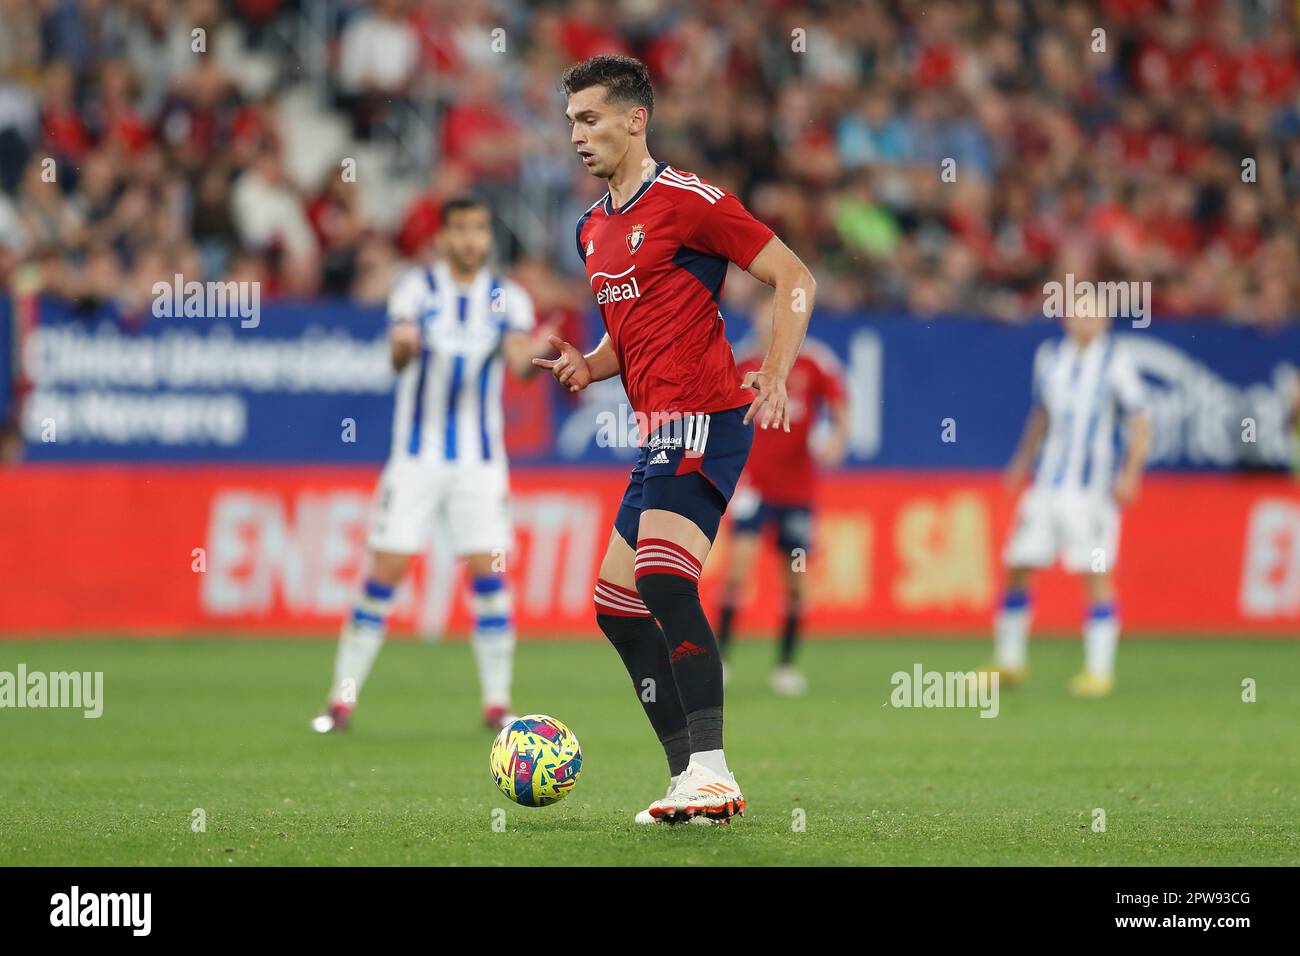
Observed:
[[[595,583],[595,623],[623,658],[632,688],[663,744],[668,775],[676,777],[690,761],[690,735],[659,623],[637,592],[603,579]]]

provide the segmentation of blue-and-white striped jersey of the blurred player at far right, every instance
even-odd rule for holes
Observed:
[[[1123,343],[1110,334],[1082,349],[1069,337],[1044,342],[1034,356],[1034,399],[1048,415],[1035,485],[1109,494],[1123,419],[1145,402]]]

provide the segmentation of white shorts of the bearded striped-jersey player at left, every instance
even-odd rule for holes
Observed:
[[[420,554],[430,546],[436,523],[447,529],[458,555],[508,551],[515,531],[506,466],[389,459],[374,492],[370,549]]]

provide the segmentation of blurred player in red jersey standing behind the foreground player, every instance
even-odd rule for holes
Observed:
[[[755,312],[754,339],[749,355],[740,363],[741,375],[760,367],[770,334],[766,316]],[[803,343],[803,350],[785,380],[785,389],[789,395],[790,431],[768,429],[754,436],[749,467],[732,499],[732,542],[718,620],[718,644],[725,654],[759,538],[770,529],[784,567],[786,594],[772,689],[798,696],[807,689],[807,682],[794,666],[794,649],[805,598],[803,570],[812,545],[816,468],[835,468],[844,462],[849,444],[849,416],[840,363],[820,342],[809,339]],[[812,425],[823,408],[831,420],[831,433],[814,450]]]

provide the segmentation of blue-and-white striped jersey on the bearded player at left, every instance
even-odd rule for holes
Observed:
[[[460,286],[438,263],[402,277],[389,321],[419,323],[422,345],[398,376],[391,458],[504,464],[502,339],[532,332],[528,293],[486,268]]]

